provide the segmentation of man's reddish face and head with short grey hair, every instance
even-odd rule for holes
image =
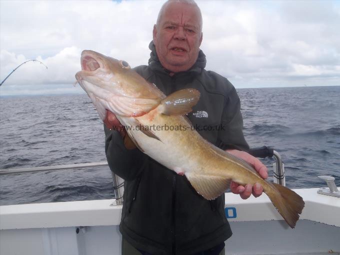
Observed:
[[[169,2],[153,27],[153,43],[162,66],[171,72],[188,70],[198,57],[202,41],[198,9]]]

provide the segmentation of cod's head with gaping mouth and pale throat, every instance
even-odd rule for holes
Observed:
[[[124,60],[83,50],[81,71],[75,74],[101,119],[106,109],[119,116],[140,116],[155,108],[164,94],[131,69]]]

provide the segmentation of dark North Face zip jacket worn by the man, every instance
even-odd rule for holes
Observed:
[[[152,41],[149,48],[148,66],[137,66],[135,71],[165,95],[182,88],[198,89],[200,99],[187,116],[199,134],[222,149],[248,149],[236,90],[226,78],[204,69],[203,52],[199,51],[188,71],[169,76]],[[107,162],[125,180],[119,229],[128,242],[154,255],[188,255],[231,236],[224,215],[224,195],[211,201],[202,198],[185,176],[137,148],[126,149],[117,131],[104,128]]]

